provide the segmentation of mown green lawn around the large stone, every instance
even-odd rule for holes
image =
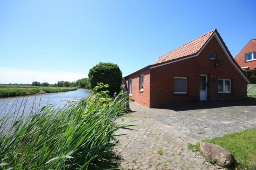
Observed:
[[[209,142],[220,145],[231,152],[236,159],[236,167],[239,169],[256,168],[256,128],[230,133],[222,137],[205,139]],[[196,145],[188,144],[192,151],[199,151],[199,143]]]

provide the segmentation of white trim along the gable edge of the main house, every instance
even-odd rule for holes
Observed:
[[[179,59],[179,60],[174,60],[174,61],[170,61],[170,62],[167,62],[167,63],[164,63],[164,64],[159,64],[157,66],[152,66],[150,67],[150,69],[153,69],[153,68],[156,68],[156,67],[161,67],[161,66],[164,66],[164,65],[167,65],[167,64],[171,64],[171,63],[175,63],[175,62],[178,62],[178,61],[182,61],[182,60],[186,60],[186,59],[190,59],[190,58],[193,58],[193,57],[196,57],[198,56],[202,50],[204,49],[204,47],[208,44],[208,42],[212,39],[212,37],[215,37],[218,41],[218,43],[220,44],[222,50],[224,51],[224,53],[226,54],[226,56],[228,57],[228,60],[230,61],[230,63],[236,68],[236,70],[238,71],[239,74],[241,74],[241,76],[244,78],[244,80],[247,82],[247,83],[250,83],[250,81],[248,81],[248,79],[246,78],[246,76],[242,73],[242,71],[240,70],[240,68],[238,68],[236,66],[236,64],[234,63],[234,61],[231,59],[231,57],[229,56],[226,48],[224,47],[224,45],[222,44],[222,42],[220,41],[220,38],[219,36],[216,34],[216,32],[214,32],[212,34],[212,36],[208,39],[208,41],[204,44],[204,46],[202,47],[202,49],[196,53],[195,55],[192,55],[192,56],[189,56],[189,57],[186,57],[186,58],[182,58],[182,59]]]

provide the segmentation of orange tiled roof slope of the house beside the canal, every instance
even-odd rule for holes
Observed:
[[[198,53],[215,31],[217,30],[214,29],[210,32],[207,32],[201,37],[198,37],[197,39],[194,39],[187,44],[184,44],[183,46],[180,46],[179,48],[176,48],[175,50],[172,50],[171,52],[162,55],[156,60],[155,64],[178,59],[185,56],[191,56]]]

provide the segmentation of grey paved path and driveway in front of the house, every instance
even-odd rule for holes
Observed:
[[[243,106],[241,106],[241,103]],[[201,102],[149,109],[136,103],[124,122],[137,124],[120,130],[116,147],[124,169],[221,169],[195,152],[188,143],[256,127],[256,99]],[[163,154],[158,153],[162,150]]]

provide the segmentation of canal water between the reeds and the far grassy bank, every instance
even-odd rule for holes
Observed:
[[[32,96],[19,96],[0,98],[0,125],[3,124],[3,117],[12,114],[14,117],[27,116],[36,113],[42,107],[51,104],[55,108],[63,108],[69,103],[77,103],[81,98],[88,97],[92,94],[91,90],[77,89],[75,91],[50,93]],[[8,121],[2,128],[3,130],[10,127]]]

